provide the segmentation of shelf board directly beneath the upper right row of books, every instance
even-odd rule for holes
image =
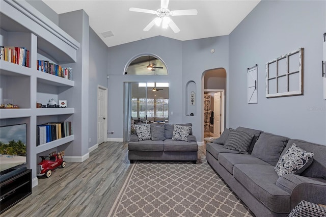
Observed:
[[[56,75],[48,74],[41,71],[36,71],[37,82],[53,85],[58,87],[73,87],[75,85],[73,80],[69,80]]]

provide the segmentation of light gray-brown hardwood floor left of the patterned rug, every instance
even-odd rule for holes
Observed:
[[[199,146],[198,157],[205,154]],[[1,216],[104,216],[129,166],[127,143],[102,143],[84,162],[67,162],[51,177],[39,178],[32,195]]]

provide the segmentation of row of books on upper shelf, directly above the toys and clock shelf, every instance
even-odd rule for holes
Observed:
[[[37,70],[72,80],[72,68],[61,67],[46,60],[37,60]]]

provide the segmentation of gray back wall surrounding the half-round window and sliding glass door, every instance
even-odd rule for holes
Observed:
[[[167,76],[124,75],[124,67],[140,53],[157,55],[167,65]],[[123,138],[123,83],[169,82],[169,122],[181,123],[182,42],[161,36],[108,48],[108,138]],[[173,115],[171,115],[173,112]]]

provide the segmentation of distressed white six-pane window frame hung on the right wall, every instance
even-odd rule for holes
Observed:
[[[302,95],[304,48],[266,63],[266,97]]]

